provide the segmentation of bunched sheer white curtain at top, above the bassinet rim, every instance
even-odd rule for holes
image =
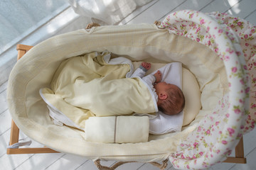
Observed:
[[[100,25],[115,25],[152,0],[69,0],[75,13]]]

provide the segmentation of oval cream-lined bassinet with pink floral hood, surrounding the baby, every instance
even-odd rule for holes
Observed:
[[[224,161],[242,134],[254,128],[255,32],[240,18],[185,10],[171,13],[158,27],[101,26],[58,35],[33,47],[15,65],[9,111],[28,137],[58,152],[118,161],[169,159],[177,169],[203,169]],[[50,84],[61,61],[104,50],[133,61],[182,62],[202,93],[195,120],[182,132],[121,145],[86,142],[80,130],[53,125],[39,89]]]

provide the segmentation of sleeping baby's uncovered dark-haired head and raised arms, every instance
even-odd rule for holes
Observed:
[[[149,74],[146,77],[146,71],[151,68],[148,62],[142,62],[140,67],[135,70],[132,77],[141,77],[149,87],[151,87],[159,111],[166,115],[176,115],[180,113],[185,106],[185,97],[181,89],[174,84],[166,84],[161,81],[161,72],[158,70],[154,75]]]

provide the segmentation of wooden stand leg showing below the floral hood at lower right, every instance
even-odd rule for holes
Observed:
[[[235,147],[235,157],[228,157],[224,162],[246,164],[246,158],[244,155],[243,140],[241,138],[238,145]]]

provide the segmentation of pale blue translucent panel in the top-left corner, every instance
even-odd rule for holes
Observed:
[[[0,53],[66,8],[67,0],[0,1]]]

